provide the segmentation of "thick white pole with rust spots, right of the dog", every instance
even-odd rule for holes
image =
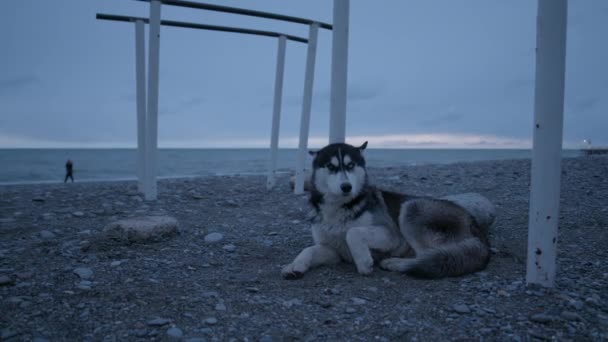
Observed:
[[[567,0],[539,0],[526,282],[555,282],[564,117]]]

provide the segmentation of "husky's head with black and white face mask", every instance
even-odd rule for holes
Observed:
[[[367,172],[363,150],[367,141],[354,147],[348,144],[331,144],[311,152],[312,193],[332,202],[349,202],[367,185]]]

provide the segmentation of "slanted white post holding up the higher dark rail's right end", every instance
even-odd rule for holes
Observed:
[[[310,110],[312,106],[312,87],[315,78],[315,59],[317,55],[317,33],[319,24],[312,23],[308,30],[308,50],[306,53],[306,74],[304,76],[304,96],[302,99],[302,116],[300,117],[300,141],[296,160],[296,180],[294,193],[304,193],[304,178],[306,177],[306,155],[308,148],[308,131],[310,128]]]

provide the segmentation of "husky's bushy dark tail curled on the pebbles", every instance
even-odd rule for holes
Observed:
[[[483,270],[490,246],[477,237],[425,250],[411,259],[404,272],[418,278],[457,277]]]

